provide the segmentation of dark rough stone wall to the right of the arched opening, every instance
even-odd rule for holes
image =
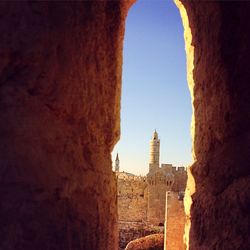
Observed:
[[[190,249],[248,249],[250,4],[182,2],[194,46]]]

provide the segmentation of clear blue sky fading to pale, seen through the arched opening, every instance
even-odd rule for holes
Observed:
[[[120,170],[148,172],[149,141],[161,140],[161,163],[191,162],[191,98],[179,11],[171,0],[138,0],[126,20]]]

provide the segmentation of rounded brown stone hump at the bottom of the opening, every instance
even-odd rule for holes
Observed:
[[[164,249],[164,235],[152,234],[131,241],[125,250],[163,250]]]

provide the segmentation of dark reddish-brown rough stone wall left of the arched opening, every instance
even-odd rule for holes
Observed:
[[[0,249],[117,248],[128,4],[0,3]]]

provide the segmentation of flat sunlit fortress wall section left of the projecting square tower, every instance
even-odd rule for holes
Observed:
[[[147,183],[142,178],[118,178],[118,219],[145,221],[147,218]]]

